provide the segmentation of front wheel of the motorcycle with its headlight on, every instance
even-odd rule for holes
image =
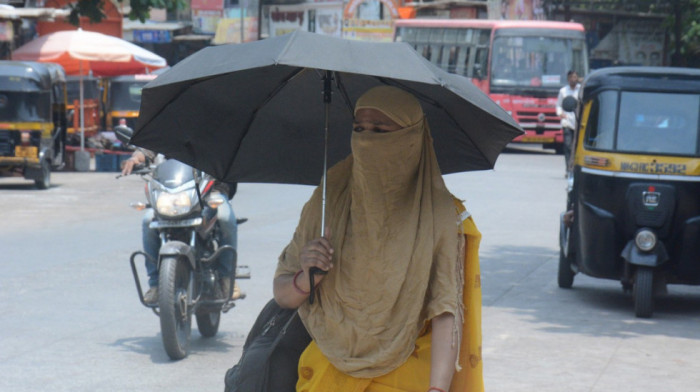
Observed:
[[[164,257],[158,277],[158,306],[163,346],[171,359],[187,356],[192,331],[187,286],[190,269],[186,260]]]

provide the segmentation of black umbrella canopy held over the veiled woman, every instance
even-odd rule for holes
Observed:
[[[205,48],[160,75],[143,89],[132,143],[226,181],[319,184],[324,145],[329,165],[350,153],[353,104],[381,84],[421,101],[443,174],[493,168],[522,133],[407,44],[295,32]]]

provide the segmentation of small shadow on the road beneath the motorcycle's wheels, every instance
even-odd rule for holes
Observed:
[[[216,335],[211,338],[204,338],[196,331],[192,332],[188,356],[205,354],[207,352],[227,353],[236,348],[236,345],[226,342],[225,335]],[[132,337],[118,339],[110,346],[120,348],[124,351],[131,351],[137,354],[149,355],[153,363],[174,362],[163,348],[163,340],[160,334],[155,336]],[[241,346],[243,342],[241,341]],[[185,357],[185,359],[187,359]]]

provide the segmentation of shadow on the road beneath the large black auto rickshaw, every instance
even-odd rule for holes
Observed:
[[[700,339],[700,288],[669,285],[651,319],[634,316],[631,293],[619,282],[577,274],[573,288],[557,286],[559,256],[543,247],[500,246],[481,256],[484,307],[508,308],[541,331],[629,337]]]

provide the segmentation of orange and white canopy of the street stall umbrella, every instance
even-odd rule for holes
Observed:
[[[82,29],[39,37],[15,50],[12,59],[58,63],[68,75],[139,74],[167,65],[164,58],[140,46]]]

